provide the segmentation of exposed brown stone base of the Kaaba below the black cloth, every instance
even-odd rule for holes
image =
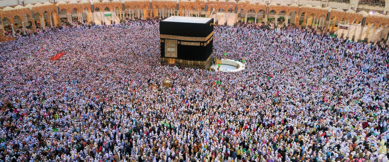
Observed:
[[[176,65],[177,67],[186,67],[186,68],[208,69],[212,64],[212,54],[205,61],[193,61],[193,60],[182,60],[177,58],[161,57],[161,64]]]

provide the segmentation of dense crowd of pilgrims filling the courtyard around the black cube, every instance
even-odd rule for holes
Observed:
[[[382,43],[238,24],[213,46],[245,70],[161,65],[158,20],[1,44],[0,161],[388,161]]]

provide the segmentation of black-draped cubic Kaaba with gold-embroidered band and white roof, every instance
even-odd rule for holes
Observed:
[[[213,18],[182,16],[161,21],[161,64],[209,68],[213,51],[213,22]]]

